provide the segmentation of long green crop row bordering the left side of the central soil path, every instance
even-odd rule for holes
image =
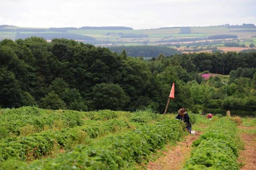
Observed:
[[[184,123],[169,119],[156,124],[144,124],[116,135],[108,135],[90,145],[78,145],[72,152],[55,158],[36,160],[20,170],[42,169],[122,169],[134,163],[148,161],[152,152],[168,142],[175,142],[184,134]]]

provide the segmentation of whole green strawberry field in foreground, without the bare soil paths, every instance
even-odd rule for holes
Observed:
[[[0,169],[141,169],[188,134],[175,115],[124,111],[0,110]],[[197,128],[204,118],[190,114]],[[215,118],[193,142],[183,169],[238,169],[238,129]],[[143,167],[143,166],[142,166]]]

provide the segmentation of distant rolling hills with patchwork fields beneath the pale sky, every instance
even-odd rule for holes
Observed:
[[[84,26],[80,28],[0,26],[0,40],[24,39],[31,36],[43,37],[48,41],[53,38],[66,38],[104,47],[118,45],[161,45],[177,48],[182,50],[182,52],[206,50],[208,52],[208,49],[226,47],[225,44],[230,43],[237,43],[237,46],[245,48],[248,48],[251,43],[256,45],[256,26],[254,24],[243,24],[240,26],[226,24],[222,26],[166,27],[141,30],[134,30],[133,28],[123,26]],[[240,49],[234,50],[239,51]]]

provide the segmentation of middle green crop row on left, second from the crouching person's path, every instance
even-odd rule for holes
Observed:
[[[34,160],[46,156],[54,150],[54,147],[70,145],[81,140],[79,133],[86,132],[82,140],[103,136],[115,132],[120,127],[128,128],[129,125],[122,120],[110,120],[102,123],[102,126],[88,125],[85,127],[64,128],[59,131],[47,130],[37,134],[30,134],[25,137],[6,138],[0,143],[0,162],[9,158],[17,160]]]

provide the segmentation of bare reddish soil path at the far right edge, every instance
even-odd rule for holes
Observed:
[[[255,127],[239,127],[241,129],[255,129]],[[245,142],[241,150],[238,163],[244,164],[241,170],[256,170],[256,134],[242,132],[241,139]]]

